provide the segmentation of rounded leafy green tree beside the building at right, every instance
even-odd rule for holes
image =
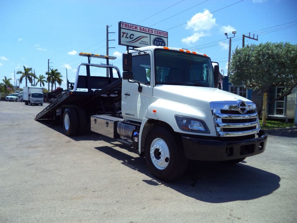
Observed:
[[[297,86],[297,45],[267,42],[236,47],[229,70],[230,83],[263,95],[272,87],[284,87],[277,98],[269,98],[268,103],[272,103],[291,94]]]

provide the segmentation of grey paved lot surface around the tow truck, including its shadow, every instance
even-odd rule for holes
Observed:
[[[243,163],[190,162],[163,183],[98,134],[34,121],[44,106],[0,101],[0,222],[297,222],[297,131],[272,131]]]

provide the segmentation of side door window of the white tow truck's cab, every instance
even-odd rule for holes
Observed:
[[[133,80],[143,84],[150,84],[151,57],[149,54],[132,57]]]

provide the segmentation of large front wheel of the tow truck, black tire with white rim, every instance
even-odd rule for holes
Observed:
[[[163,181],[180,177],[187,167],[180,137],[162,127],[153,128],[149,132],[145,144],[145,159],[152,174]]]

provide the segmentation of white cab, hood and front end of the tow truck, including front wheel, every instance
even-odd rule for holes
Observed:
[[[237,163],[264,151],[255,104],[215,88],[218,66],[206,54],[131,49],[123,70],[122,115],[140,123],[138,150],[158,178],[175,178],[187,159]]]

